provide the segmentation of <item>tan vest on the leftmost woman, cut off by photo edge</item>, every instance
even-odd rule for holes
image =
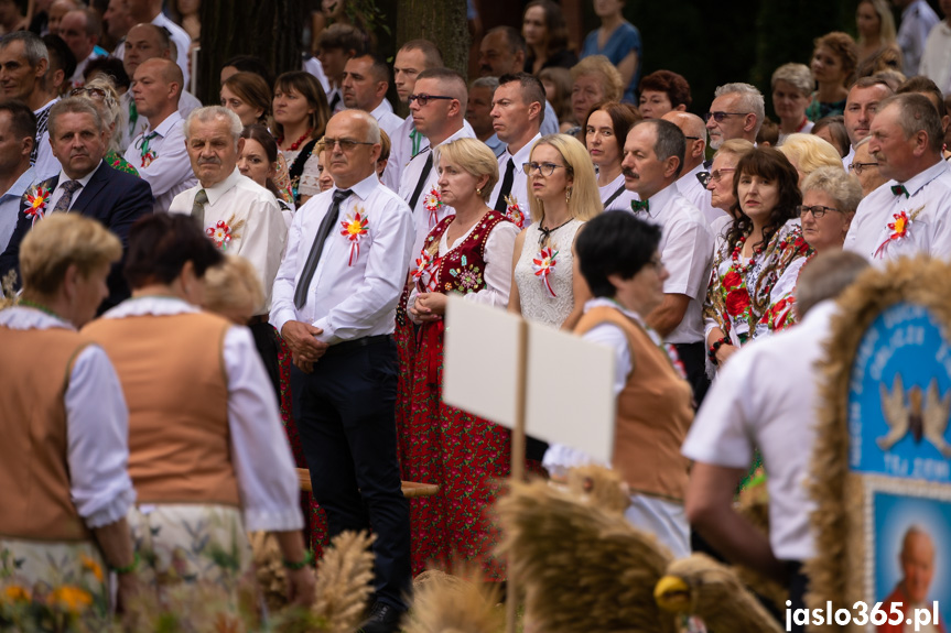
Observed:
[[[0,536],[91,537],[69,494],[65,404],[73,364],[87,345],[65,328],[0,327]]]

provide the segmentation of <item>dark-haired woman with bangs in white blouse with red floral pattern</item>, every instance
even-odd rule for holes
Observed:
[[[714,367],[769,331],[760,324],[763,315],[791,292],[798,266],[811,252],[797,217],[802,204],[798,183],[796,168],[772,148],[756,148],[736,164],[736,220],[716,238],[703,306],[707,357]]]

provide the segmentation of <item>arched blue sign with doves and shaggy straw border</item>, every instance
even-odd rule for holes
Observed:
[[[926,538],[945,560],[951,550],[951,531],[940,526],[951,523],[951,448],[942,446],[951,435],[951,266],[919,258],[864,273],[840,297],[831,329],[817,372],[817,552],[806,565],[806,604],[824,623],[810,618],[809,631],[875,631],[883,615],[893,625],[912,616],[890,611],[909,532],[934,527],[940,534]],[[869,615],[882,603],[878,621],[828,621],[843,609],[857,614],[856,602]],[[942,619],[949,608],[941,602]]]

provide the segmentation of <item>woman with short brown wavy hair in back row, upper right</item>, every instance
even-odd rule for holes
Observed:
[[[847,33],[833,31],[815,40],[811,68],[818,88],[806,109],[810,120],[818,121],[845,111],[846,86],[852,83],[857,64],[855,41]]]

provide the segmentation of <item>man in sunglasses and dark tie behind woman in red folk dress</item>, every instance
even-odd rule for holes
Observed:
[[[420,73],[414,94],[410,95],[412,120],[429,141],[429,148],[410,161],[400,179],[400,197],[410,206],[417,231],[413,255],[422,250],[430,230],[455,212],[439,198],[439,165],[432,149],[456,139],[475,138],[471,129],[463,127],[467,99],[465,79],[449,68]]]

